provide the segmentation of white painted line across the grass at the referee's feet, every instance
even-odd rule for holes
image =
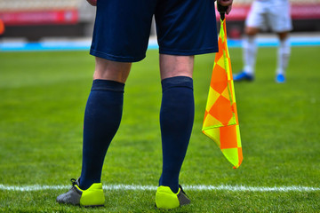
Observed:
[[[33,192],[43,190],[69,189],[70,185],[0,185],[3,191]],[[108,191],[156,191],[155,185],[103,185]],[[229,191],[229,192],[316,192],[320,187],[312,186],[245,186],[245,185],[185,185],[189,191]]]

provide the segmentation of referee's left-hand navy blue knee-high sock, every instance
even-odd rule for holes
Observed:
[[[83,165],[80,188],[100,183],[108,146],[120,125],[124,83],[94,80],[84,113]]]

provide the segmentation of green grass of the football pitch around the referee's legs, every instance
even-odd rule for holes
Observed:
[[[241,49],[230,49],[234,72]],[[275,83],[276,48],[262,48],[256,80],[235,83],[244,162],[233,170],[201,132],[214,54],[196,57],[196,116],[181,185],[320,187],[320,47],[294,47],[287,83]],[[124,116],[109,147],[104,185],[157,185],[161,174],[157,51],[132,66]],[[84,51],[0,53],[0,184],[68,185],[81,171],[84,106],[93,58]],[[105,191],[106,207],[59,205],[66,190],[0,190],[1,212],[158,212],[154,191]],[[320,192],[187,191],[171,212],[318,212]]]

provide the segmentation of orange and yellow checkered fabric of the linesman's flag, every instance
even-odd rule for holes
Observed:
[[[219,52],[214,59],[202,131],[212,138],[236,169],[243,161],[243,154],[228,52],[226,19],[220,22]]]

